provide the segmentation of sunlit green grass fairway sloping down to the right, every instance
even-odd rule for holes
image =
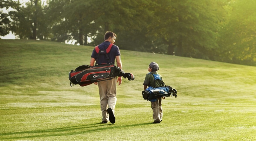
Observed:
[[[0,40],[0,140],[256,140],[256,67],[121,50],[135,80],[117,86],[116,123],[100,124],[97,86],[68,80],[71,69],[89,65],[92,50]],[[162,101],[161,124],[152,124],[141,94],[151,61],[178,91]]]

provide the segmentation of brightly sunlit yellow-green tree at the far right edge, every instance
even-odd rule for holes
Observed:
[[[256,65],[256,1],[237,0],[227,5],[227,21],[219,39],[217,61]]]

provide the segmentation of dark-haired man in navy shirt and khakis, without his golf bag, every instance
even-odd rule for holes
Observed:
[[[101,43],[99,45],[100,50],[106,50],[110,44],[114,44],[116,40],[116,34],[110,31],[107,31],[104,36],[105,42]],[[109,60],[114,64],[116,60],[117,67],[120,67],[122,69],[122,62],[120,58],[120,50],[119,47],[116,45],[113,45],[110,52],[108,53]],[[107,59],[105,54],[99,55],[99,58],[97,58],[97,53],[95,51],[95,48],[93,50],[91,60],[90,60],[90,66],[94,66],[95,61],[97,60],[97,64],[108,64],[109,60]],[[122,76],[118,78],[114,78],[111,80],[105,80],[100,82],[95,82],[95,85],[98,85],[99,87],[99,93],[100,93],[100,107],[102,112],[102,122],[101,123],[115,123],[115,104],[116,104],[116,83],[119,82],[118,85],[122,83]],[[108,106],[108,109],[107,109]],[[109,118],[108,118],[109,114]]]

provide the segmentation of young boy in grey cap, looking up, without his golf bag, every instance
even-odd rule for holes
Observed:
[[[151,62],[149,64],[148,71],[150,73],[148,73],[145,77],[145,80],[143,83],[144,90],[147,89],[147,86],[153,87],[153,88],[164,86],[162,76],[157,73],[158,70],[159,70],[158,64],[156,64],[155,62]],[[155,80],[154,77],[160,77],[161,80]],[[162,97],[162,98],[164,99],[165,97]],[[153,110],[153,119],[154,119],[153,123],[161,123],[162,121],[162,118],[163,118],[162,98],[161,97],[157,98],[155,102],[151,101],[151,108]]]

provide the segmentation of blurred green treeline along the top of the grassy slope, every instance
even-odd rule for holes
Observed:
[[[0,35],[256,66],[255,0],[1,0]],[[88,42],[88,38],[91,42]]]

